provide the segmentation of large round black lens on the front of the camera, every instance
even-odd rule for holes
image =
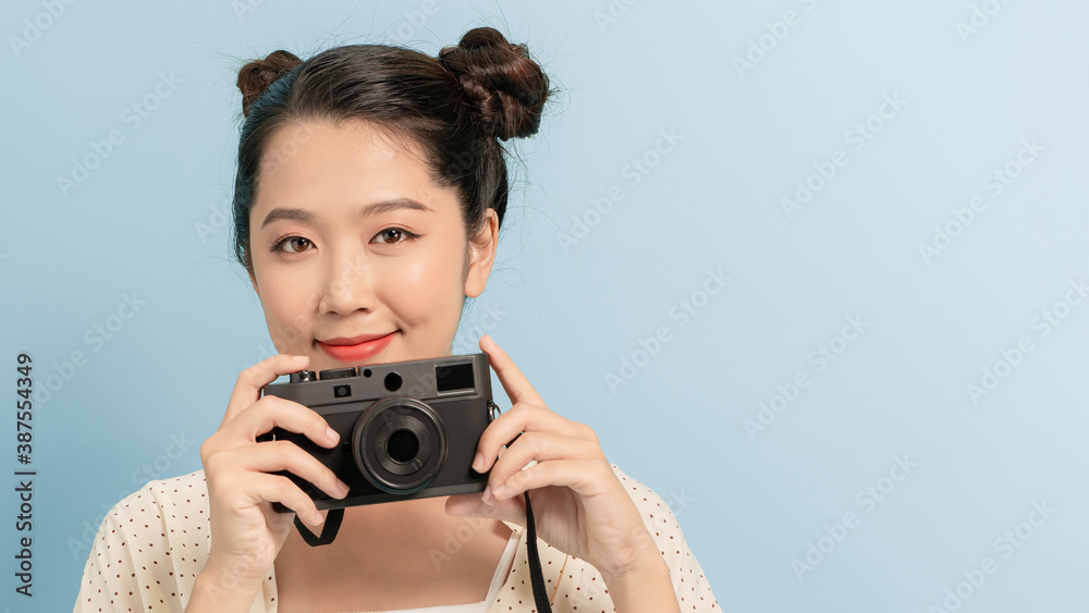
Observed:
[[[408,494],[428,486],[446,459],[446,437],[435,409],[393,396],[367,407],[352,431],[356,468],[376,488]]]

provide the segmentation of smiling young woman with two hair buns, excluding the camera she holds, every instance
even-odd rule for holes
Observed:
[[[295,444],[258,438],[280,427],[332,448],[338,436],[261,388],[304,368],[451,355],[506,208],[500,140],[537,131],[549,85],[525,47],[477,28],[438,58],[277,51],[238,86],[235,246],[280,355],[238,377],[203,470],[152,481],[107,516],[75,609],[536,611],[529,491],[554,611],[717,610],[669,507],[609,464],[589,427],[550,410],[487,335],[514,405],[480,438],[485,492],[347,507],[334,542],[303,541],[294,517],[317,531],[323,515],[274,473],[333,498],[346,486]]]

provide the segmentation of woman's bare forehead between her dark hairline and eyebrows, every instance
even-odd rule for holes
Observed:
[[[365,121],[307,120],[280,126],[266,144],[250,221],[278,206],[337,210],[409,198],[457,212],[418,148]]]

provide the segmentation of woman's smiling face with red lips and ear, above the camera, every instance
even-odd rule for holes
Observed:
[[[277,350],[310,370],[450,355],[485,287],[478,241],[417,154],[363,121],[293,122],[269,139],[249,214],[254,289]]]

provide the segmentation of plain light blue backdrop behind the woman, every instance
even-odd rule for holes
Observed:
[[[725,611],[945,610],[988,556],[996,573],[960,610],[1085,610],[1089,302],[1060,306],[1047,336],[1033,322],[1089,275],[1089,4],[613,0],[602,21],[605,0],[436,0],[415,25],[416,1],[241,16],[227,0],[76,2],[57,19],[47,3],[0,9],[5,406],[19,352],[39,389],[72,352],[89,357],[35,410],[33,604],[13,592],[4,481],[0,605],[69,609],[105,510],[149,476],[199,468],[238,371],[268,354],[218,217],[243,61],[375,40],[435,53],[490,24],[562,94],[518,146],[498,265],[455,351],[489,332],[551,408],[591,425],[674,506]],[[976,9],[981,27],[958,33]],[[24,20],[51,23],[16,52]],[[735,62],[749,52],[751,68]],[[123,113],[160,74],[180,83],[133,128]],[[906,103],[871,119],[886,95]],[[855,150],[867,120],[884,125]],[[57,177],[111,130],[123,143],[65,196]],[[660,131],[682,140],[656,159]],[[994,196],[984,182],[1023,139],[1042,150]],[[781,199],[836,150],[846,164],[787,216]],[[657,165],[634,185],[644,156]],[[594,217],[611,188],[623,199]],[[927,263],[920,243],[976,195],[987,208]],[[592,225],[565,249],[573,217]],[[694,296],[720,268],[725,286]],[[87,331],[132,293],[146,305],[95,344]],[[671,309],[686,299],[702,308],[682,327]],[[868,327],[834,341],[848,316]],[[670,341],[613,393],[607,376],[659,327]],[[1021,336],[1031,353],[974,403],[968,385]],[[842,354],[818,372],[810,353],[830,343]],[[750,437],[744,420],[798,372],[810,384]],[[14,470],[7,415],[0,465]],[[897,456],[917,466],[882,480]],[[867,487],[886,495],[867,502]],[[1021,547],[995,547],[1043,502],[1055,512]],[[848,512],[856,527],[799,579],[792,560]]]

